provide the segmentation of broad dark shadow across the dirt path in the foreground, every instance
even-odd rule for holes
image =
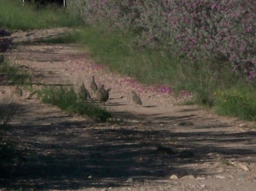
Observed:
[[[26,113],[24,109],[22,112]],[[170,117],[159,126],[151,122],[72,122],[65,116],[54,117],[53,113],[50,116],[34,119],[52,121],[48,125],[23,121],[13,126],[12,136],[21,138],[29,147],[30,155],[18,165],[4,168],[3,187],[67,190],[124,186],[129,184],[129,177],[143,181],[172,174],[207,176],[209,172],[189,167],[189,164],[211,161],[209,152],[237,159],[256,154],[254,132],[229,133],[225,131],[225,124],[219,124],[223,129],[219,132],[217,125],[214,128],[171,125],[172,120],[182,122],[184,117]],[[129,113],[123,116],[134,117]],[[175,132],[177,128],[193,128],[194,131]],[[173,149],[177,155],[157,152],[159,145]],[[178,155],[184,150],[189,150],[193,156]]]

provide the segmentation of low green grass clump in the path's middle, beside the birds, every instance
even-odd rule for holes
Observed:
[[[105,122],[111,114],[99,106],[80,101],[75,90],[67,87],[45,87],[39,91],[39,97],[46,104],[53,104],[67,112],[86,114],[94,120]]]

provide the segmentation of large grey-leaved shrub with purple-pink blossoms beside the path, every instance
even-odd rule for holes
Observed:
[[[221,58],[255,75],[255,0],[74,0],[70,8],[87,22],[131,27],[140,45]]]

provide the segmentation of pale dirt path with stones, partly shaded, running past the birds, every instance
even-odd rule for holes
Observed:
[[[71,116],[26,99],[26,91],[18,98],[15,87],[2,83],[0,98],[18,104],[10,136],[31,155],[6,172],[0,190],[255,190],[254,129],[198,106],[178,105],[188,96],[175,99],[112,73],[74,44],[23,43],[64,30],[18,31],[11,36],[18,45],[7,57],[31,74],[35,88],[77,88],[80,82],[89,87],[94,76],[98,85],[112,88],[106,109],[121,122]],[[143,106],[129,101],[131,90]]]

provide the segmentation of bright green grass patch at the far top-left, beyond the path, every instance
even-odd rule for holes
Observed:
[[[37,9],[30,4],[22,6],[19,0],[0,1],[0,22],[2,27],[12,30],[78,26],[80,24],[80,20],[64,8]]]

